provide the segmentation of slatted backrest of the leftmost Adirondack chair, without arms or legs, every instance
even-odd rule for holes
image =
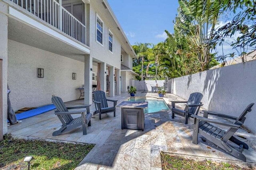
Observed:
[[[58,112],[68,111],[67,107],[65,106],[61,98],[57,96],[53,96],[52,103],[54,104]],[[73,117],[71,115],[61,115],[61,116],[67,124],[69,124],[73,120]]]

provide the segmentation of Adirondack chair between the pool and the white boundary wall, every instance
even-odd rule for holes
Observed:
[[[185,117],[185,124],[188,124],[188,117],[190,115],[197,115],[198,111],[202,105],[203,95],[201,93],[190,94],[188,101],[171,101],[172,102],[172,119],[174,119],[174,114],[181,115]],[[175,103],[186,103],[184,110],[175,108]]]

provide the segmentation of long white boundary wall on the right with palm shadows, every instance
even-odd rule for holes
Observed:
[[[172,90],[188,99],[193,92],[204,95],[205,109],[238,116],[250,103],[256,103],[256,60],[174,78]],[[256,132],[256,104],[246,115],[245,126]]]

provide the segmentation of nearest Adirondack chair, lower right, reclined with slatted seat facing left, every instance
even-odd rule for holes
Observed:
[[[252,111],[252,106],[254,103],[249,104],[246,109],[242,112],[242,114],[239,117],[234,117],[230,115],[224,115],[220,113],[216,113],[213,111],[206,111],[204,112],[204,117],[198,116],[198,115],[191,115],[191,117],[194,117],[194,132],[193,132],[193,140],[192,143],[197,144],[198,143],[198,134],[202,135],[215,145],[217,147],[220,147],[221,149],[225,150],[228,154],[233,155],[234,157],[246,161],[246,157],[244,154],[242,154],[243,149],[248,149],[248,145],[234,137],[234,133],[244,124],[244,121],[246,117],[246,113]],[[215,121],[212,119],[208,119],[208,115],[214,115],[217,117],[223,117],[227,119],[233,119],[235,120],[234,123],[225,123],[220,121]],[[214,125],[211,125],[210,123],[215,123],[218,125],[223,125],[226,127],[229,127],[228,131],[224,131],[220,129],[219,127],[216,127]],[[234,148],[228,141],[233,142],[234,144],[238,145],[237,148]]]

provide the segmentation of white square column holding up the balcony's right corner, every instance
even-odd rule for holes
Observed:
[[[84,104],[92,104],[92,57],[84,57]]]

